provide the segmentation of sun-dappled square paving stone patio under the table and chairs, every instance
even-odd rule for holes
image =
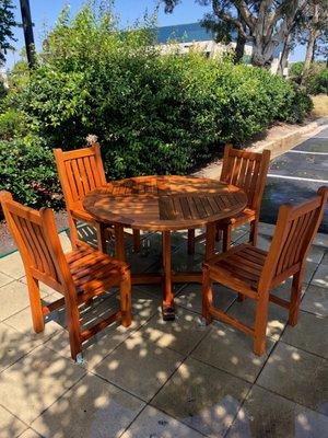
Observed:
[[[268,249],[273,226],[260,224]],[[81,229],[85,239],[92,230]],[[246,228],[234,243],[247,238]],[[60,234],[70,250],[66,233]],[[187,256],[186,235],[173,239],[174,268],[199,267],[203,242]],[[160,237],[144,234],[140,255],[127,243],[132,270],[160,268]],[[290,284],[277,293],[286,297]],[[324,438],[328,436],[328,234],[315,239],[300,323],[270,304],[268,348],[220,322],[203,326],[200,285],[175,287],[177,319],[163,322],[161,288],[132,290],[133,323],[89,342],[83,364],[70,359],[62,310],[32,331],[24,269],[17,252],[0,258],[1,438]],[[42,288],[50,302],[58,293]],[[237,302],[215,286],[215,304],[251,321],[251,300]],[[81,309],[85,326],[118,306],[116,290]]]

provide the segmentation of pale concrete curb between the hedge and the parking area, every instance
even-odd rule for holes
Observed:
[[[256,141],[253,146],[245,148],[245,150],[262,152],[265,149],[269,149],[271,151],[271,160],[273,160],[302,143],[314,134],[318,134],[320,130],[327,128],[328,117],[320,117],[317,120],[308,123],[306,126],[297,127],[291,125],[290,127],[292,131],[285,132],[284,135],[282,134],[277,138]],[[216,160],[200,171],[192,173],[192,175],[216,180],[221,175],[221,170],[222,160]]]

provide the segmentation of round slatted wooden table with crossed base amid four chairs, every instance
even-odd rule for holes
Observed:
[[[206,258],[214,254],[215,221],[242,211],[245,193],[215,180],[191,176],[137,176],[90,192],[83,207],[115,227],[116,256],[125,260],[124,228],[161,231],[163,274],[133,274],[132,284],[163,284],[163,318],[174,319],[173,283],[201,283],[201,273],[173,273],[171,231],[206,228]]]

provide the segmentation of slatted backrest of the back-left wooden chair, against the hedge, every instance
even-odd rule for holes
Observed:
[[[96,187],[106,184],[99,145],[63,152],[54,149],[67,206],[73,207]]]

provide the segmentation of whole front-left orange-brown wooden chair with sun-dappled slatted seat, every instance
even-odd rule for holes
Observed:
[[[35,332],[44,331],[47,314],[65,306],[71,356],[75,360],[81,355],[82,343],[108,324],[116,320],[125,327],[131,324],[131,279],[124,262],[84,242],[77,242],[72,252],[63,254],[51,209],[36,211],[24,207],[15,203],[9,192],[0,193],[0,201],[24,263]],[[39,281],[62,293],[63,298],[43,306]],[[81,331],[79,306],[113,286],[120,287],[120,310]]]

